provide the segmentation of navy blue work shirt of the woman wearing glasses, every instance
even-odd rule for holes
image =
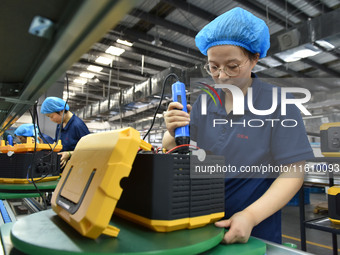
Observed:
[[[275,86],[264,83],[255,78],[255,75],[252,76],[254,108],[270,109],[272,90]],[[264,116],[250,112],[247,104],[248,93],[244,97],[244,115],[233,115],[233,111],[227,114],[224,107],[225,94],[222,89],[217,89],[217,92],[223,106],[220,104],[216,106],[207,96],[206,115],[201,114],[201,96],[194,103],[190,115],[190,137],[197,142],[198,147],[215,155],[223,155],[226,166],[230,165],[238,170],[251,166],[279,166],[314,157],[300,110],[295,105],[287,105],[287,115],[281,115],[280,88],[278,88],[277,109],[272,114]],[[214,119],[224,120],[220,121],[221,123],[228,122],[214,127]],[[266,119],[280,121],[271,122]],[[285,119],[294,119],[298,124],[295,127],[283,127],[281,123]],[[264,123],[263,126],[261,121]],[[231,125],[231,122],[234,124]],[[295,125],[295,122],[284,121],[283,123],[287,126]],[[275,178],[267,178],[267,175],[261,176],[251,172],[247,173],[247,178],[230,178],[235,176],[230,173],[226,176],[225,218],[230,218],[259,199],[275,180]],[[281,243],[281,211],[255,226],[251,235]]]

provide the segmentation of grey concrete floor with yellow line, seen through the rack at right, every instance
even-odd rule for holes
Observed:
[[[320,218],[325,214],[315,214],[313,212],[315,206],[321,203],[327,203],[327,194],[310,194],[310,204],[305,205],[306,220]],[[299,206],[285,206],[282,209],[282,242],[294,243],[298,249],[301,249],[300,243],[300,220]],[[307,252],[317,255],[332,255],[332,235],[331,233],[319,231],[315,229],[306,229]],[[339,246],[338,237],[338,247]],[[340,251],[340,249],[338,249]]]

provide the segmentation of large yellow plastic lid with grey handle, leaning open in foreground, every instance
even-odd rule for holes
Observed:
[[[52,196],[53,210],[83,236],[117,236],[108,224],[139,147],[152,146],[133,128],[82,137]]]

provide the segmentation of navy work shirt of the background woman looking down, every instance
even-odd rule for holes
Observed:
[[[57,126],[55,137],[57,139],[60,125]],[[63,145],[61,151],[73,151],[78,141],[83,136],[89,134],[90,131],[78,116],[73,114],[66,126],[61,129],[60,139]]]

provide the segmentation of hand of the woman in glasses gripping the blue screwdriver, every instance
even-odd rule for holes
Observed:
[[[169,104],[168,110],[164,113],[166,129],[172,136],[175,136],[176,128],[186,126],[190,122],[191,105],[187,105],[188,113],[184,111],[178,111],[182,109],[183,105],[181,103],[172,102]]]

